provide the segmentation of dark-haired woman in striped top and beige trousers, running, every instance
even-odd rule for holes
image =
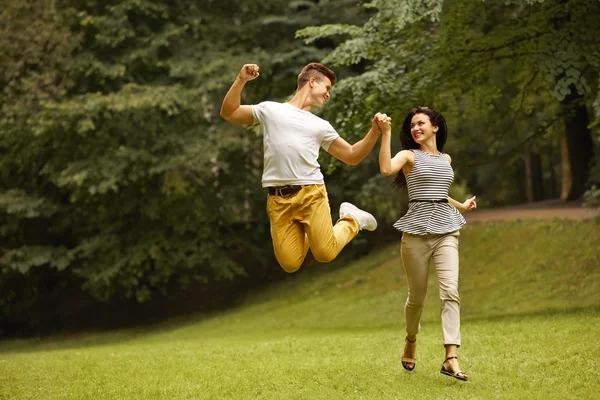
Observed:
[[[442,153],[447,137],[446,121],[428,107],[411,110],[402,124],[402,148],[393,158],[390,153],[391,122],[381,123],[382,141],[379,167],[386,176],[396,175],[394,183],[407,185],[409,207],[394,227],[403,232],[402,262],[408,281],[404,307],[406,342],[402,366],[412,371],[416,365],[417,334],[427,293],[429,261],[436,268],[442,300],[442,332],[446,357],[441,373],[466,381],[460,370],[460,299],[458,296],[458,236],[466,223],[460,212],[474,209],[475,197],[464,203],[448,196],[454,172],[448,154]],[[460,211],[460,212],[459,212]]]

